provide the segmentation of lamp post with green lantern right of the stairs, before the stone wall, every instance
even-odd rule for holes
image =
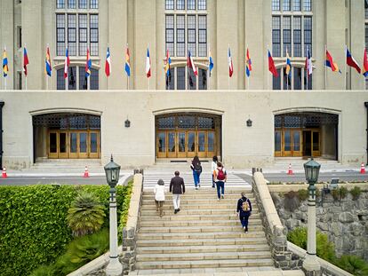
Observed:
[[[303,262],[306,275],[320,275],[321,266],[316,259],[316,182],[321,164],[313,157],[304,164],[304,171],[308,181],[308,243],[307,256]]]

